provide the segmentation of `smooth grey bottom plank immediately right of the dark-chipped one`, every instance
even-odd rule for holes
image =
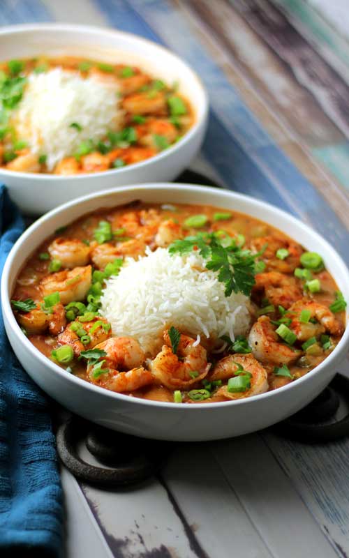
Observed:
[[[274,556],[223,476],[210,444],[181,444],[162,476],[211,558]]]

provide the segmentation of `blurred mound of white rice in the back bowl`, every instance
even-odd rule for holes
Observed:
[[[33,153],[47,156],[52,170],[85,140],[101,140],[120,117],[117,91],[80,75],[54,68],[31,73],[12,123],[17,137],[28,142]],[[71,128],[72,123],[81,130]]]

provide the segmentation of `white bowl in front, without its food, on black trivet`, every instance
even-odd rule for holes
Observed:
[[[297,412],[330,382],[349,346],[349,328],[334,351],[292,384],[262,395],[212,404],[179,405],[131,398],[77,378],[47,359],[23,335],[10,307],[15,280],[28,255],[54,229],[100,207],[142,199],[144,202],[210,204],[246,213],[281,229],[305,248],[319,252],[345,299],[349,271],[334,248],[311,228],[276,207],[252,197],[205,186],[146,184],[118,188],[77,199],[50,211],[27,229],[10,252],[3,269],[1,301],[10,343],[29,375],[61,405],[90,421],[128,434],[155,439],[199,441],[239,436],[266,428]]]

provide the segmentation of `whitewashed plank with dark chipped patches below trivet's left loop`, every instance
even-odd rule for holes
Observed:
[[[81,455],[99,465],[86,448]],[[114,558],[205,558],[156,478],[126,490],[80,487]]]

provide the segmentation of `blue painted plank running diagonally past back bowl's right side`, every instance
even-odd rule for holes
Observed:
[[[109,6],[110,1],[108,1]],[[105,0],[101,0],[100,3],[101,8],[103,8],[103,6],[105,6]],[[114,7],[114,3],[112,1],[111,3]],[[161,4],[161,6],[159,6],[159,4]],[[163,2],[159,3],[154,0],[142,2],[139,0],[132,0],[131,5],[133,8],[137,8],[137,13],[148,22],[148,26],[149,22],[152,22],[156,29],[161,29],[161,37],[166,37],[166,40],[170,43],[170,47],[179,52],[181,56],[186,57],[188,61],[193,63],[193,66],[196,66],[207,89],[211,92],[211,104],[214,114],[211,114],[209,121],[203,153],[216,167],[225,183],[234,190],[245,192],[255,197],[268,199],[270,202],[284,209],[288,209],[288,211],[292,211],[293,213],[298,212],[299,216],[304,219],[306,218],[306,214],[302,211],[302,205],[299,204],[299,199],[304,199],[309,204],[313,204],[313,206],[320,208],[321,213],[326,213],[326,216],[316,220],[316,223],[322,226],[322,234],[325,234],[325,236],[336,234],[336,247],[342,250],[343,254],[346,253],[348,249],[346,240],[348,235],[347,229],[339,223],[332,210],[323,204],[322,197],[320,197],[317,191],[302,175],[297,173],[296,169],[293,167],[291,168],[289,161],[283,156],[283,153],[281,153],[276,146],[271,144],[270,151],[268,151],[267,148],[265,150],[264,159],[261,160],[261,158],[258,157],[258,160],[255,160],[253,157],[257,151],[248,149],[248,152],[246,152],[246,145],[240,144],[239,139],[233,135],[232,126],[230,125],[237,119],[236,103],[234,107],[231,107],[231,110],[225,107],[224,119],[223,114],[220,114],[220,117],[216,116],[217,112],[220,110],[221,99],[221,96],[216,94],[217,83],[222,83],[222,87],[225,87],[228,82],[220,70],[214,66],[211,59],[209,59],[209,56],[205,52],[205,48],[200,50],[200,60],[198,60],[198,57],[195,58],[195,48],[197,47],[195,47],[193,30],[187,27],[188,22],[186,22],[181,13],[179,13],[178,10],[174,10],[173,12],[171,11],[170,5],[165,5]],[[124,4],[123,10],[125,10]],[[113,10],[110,22],[116,24],[117,20],[119,20],[119,15],[117,11],[115,12]],[[172,24],[172,17],[174,17],[176,22],[174,27]],[[133,29],[133,31],[135,31],[135,29]],[[149,36],[149,38],[154,38],[154,32],[149,33],[147,26],[144,26],[143,23],[140,24],[138,32],[148,33],[147,36]],[[181,40],[178,34],[182,32],[185,33],[185,41]],[[207,68],[209,68],[209,73],[207,73]],[[207,79],[207,75],[209,80]],[[221,89],[218,90],[221,91]],[[252,123],[258,126],[258,123],[254,120],[249,120],[248,126],[252,126]],[[274,153],[277,153],[279,158],[278,170],[276,170],[274,165]],[[268,160],[269,155],[270,160]],[[288,169],[289,177],[292,179],[292,189],[283,187],[283,174],[281,173],[281,176],[278,175],[278,171],[282,170],[283,167],[287,167]]]

